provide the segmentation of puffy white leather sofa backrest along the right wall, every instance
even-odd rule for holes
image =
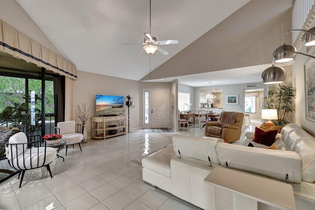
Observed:
[[[315,139],[294,123],[284,126],[281,133],[288,149],[297,152],[301,156],[303,162],[302,180],[314,182]]]

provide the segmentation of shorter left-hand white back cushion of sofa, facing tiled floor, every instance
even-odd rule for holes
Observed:
[[[216,152],[217,142],[224,142],[220,138],[212,137],[189,137],[175,134],[173,136],[173,146],[175,153],[183,157],[195,158],[205,162],[209,162],[208,157],[214,164],[220,164]]]

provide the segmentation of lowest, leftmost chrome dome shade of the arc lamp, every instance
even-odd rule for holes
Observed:
[[[286,72],[282,67],[272,67],[267,68],[261,74],[261,81],[264,84],[274,84],[284,82],[286,78]]]

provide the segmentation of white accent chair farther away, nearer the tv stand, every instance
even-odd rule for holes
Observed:
[[[66,142],[64,144],[65,156],[67,155],[68,145],[72,145],[72,148],[74,148],[74,144],[79,144],[80,150],[82,151],[80,142],[83,140],[83,134],[76,132],[76,126],[79,126],[79,124],[75,124],[75,121],[57,123],[56,133],[61,134],[63,136],[62,140]]]

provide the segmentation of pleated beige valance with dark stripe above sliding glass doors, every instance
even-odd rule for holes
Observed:
[[[77,80],[73,64],[3,21],[0,21],[0,51]]]

